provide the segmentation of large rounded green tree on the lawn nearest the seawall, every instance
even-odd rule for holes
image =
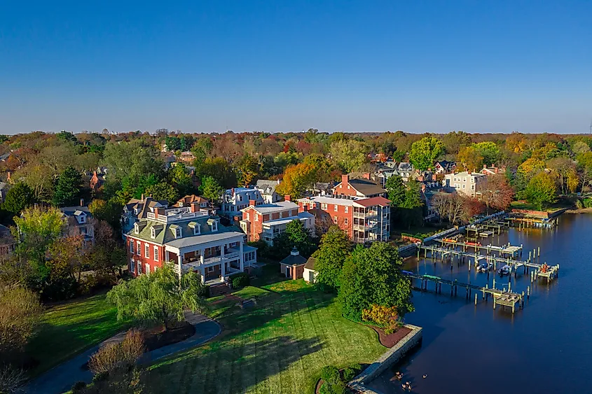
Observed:
[[[399,316],[413,311],[411,282],[401,273],[402,265],[397,248],[386,242],[374,242],[369,248],[356,246],[340,279],[343,316],[361,321],[362,311],[373,304],[397,307]]]

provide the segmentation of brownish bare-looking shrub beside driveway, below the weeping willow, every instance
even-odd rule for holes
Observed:
[[[144,353],[144,337],[138,330],[129,330],[119,344],[103,346],[90,356],[89,369],[95,374],[106,374],[119,367],[135,365]]]

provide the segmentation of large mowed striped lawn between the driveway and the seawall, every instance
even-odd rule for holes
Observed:
[[[153,365],[163,393],[313,393],[324,365],[371,363],[386,351],[371,328],[341,317],[333,295],[302,280],[235,294],[254,295],[256,306],[212,305],[219,339]]]

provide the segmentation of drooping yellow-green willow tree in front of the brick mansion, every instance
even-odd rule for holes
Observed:
[[[132,318],[142,323],[162,324],[165,330],[185,321],[184,311],[204,311],[200,297],[204,285],[195,272],[179,276],[170,265],[148,275],[123,281],[107,293],[107,300],[117,307],[118,320]]]

